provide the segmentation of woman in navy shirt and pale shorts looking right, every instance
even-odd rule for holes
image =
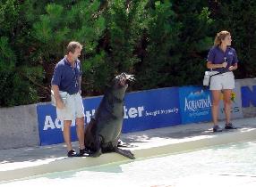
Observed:
[[[222,128],[218,126],[218,106],[223,93],[223,102],[226,115],[226,129],[235,129],[230,119],[231,113],[231,93],[235,88],[235,77],[233,70],[237,69],[237,55],[235,49],[230,47],[231,35],[228,31],[220,31],[215,37],[214,46],[211,47],[208,54],[207,68],[212,69],[209,89],[212,93],[212,118],[213,132],[220,132]]]

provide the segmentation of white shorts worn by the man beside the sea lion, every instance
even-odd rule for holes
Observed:
[[[84,117],[84,109],[80,93],[68,94],[64,101],[64,109],[56,108],[57,118],[59,120],[73,120]]]

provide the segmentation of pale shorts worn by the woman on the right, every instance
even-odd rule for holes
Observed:
[[[217,71],[212,72],[214,75]],[[235,77],[232,71],[210,77],[210,90],[232,90],[235,88]]]

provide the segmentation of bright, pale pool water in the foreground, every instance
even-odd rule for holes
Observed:
[[[0,186],[256,186],[256,142],[39,175]]]

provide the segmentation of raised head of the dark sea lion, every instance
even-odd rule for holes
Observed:
[[[112,82],[113,93],[115,97],[123,100],[124,93],[129,85],[130,82],[134,81],[135,78],[133,75],[129,75],[126,73],[121,73],[120,75],[116,76]]]

